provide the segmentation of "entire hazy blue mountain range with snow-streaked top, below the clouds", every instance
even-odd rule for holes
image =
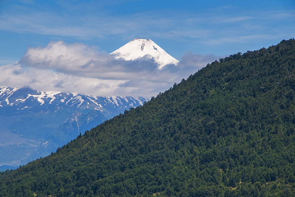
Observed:
[[[0,87],[0,169],[55,152],[80,132],[148,100]]]

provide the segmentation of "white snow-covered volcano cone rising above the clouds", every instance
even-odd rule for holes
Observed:
[[[167,64],[176,65],[178,63],[177,59],[166,53],[166,51],[150,39],[135,38],[110,54],[115,55],[116,58],[123,58],[125,60],[135,60],[148,55],[155,59],[158,69],[163,68]]]

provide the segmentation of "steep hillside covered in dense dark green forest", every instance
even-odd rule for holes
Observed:
[[[294,196],[295,40],[230,55],[0,174],[0,196]]]

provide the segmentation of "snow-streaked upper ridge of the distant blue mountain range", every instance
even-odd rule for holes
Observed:
[[[149,101],[144,97],[97,97],[78,93],[40,92],[29,87],[0,87],[0,108],[13,107],[17,110],[28,110],[32,106],[52,108],[52,106],[89,108],[127,108],[143,105]],[[51,105],[51,106],[50,106]]]

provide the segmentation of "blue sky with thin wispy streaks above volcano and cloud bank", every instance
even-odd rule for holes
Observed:
[[[74,51],[73,47],[80,46],[86,52],[81,48],[76,51],[101,55],[134,38],[151,39],[180,61],[187,54],[197,56],[202,60],[194,68],[197,71],[220,57],[295,37],[295,1],[2,0],[0,35],[0,65],[14,64],[26,72],[28,67],[40,69],[36,64],[19,62],[28,47],[45,49],[55,43],[55,47]],[[0,85],[7,83],[0,79]],[[151,92],[148,95],[155,93]]]

